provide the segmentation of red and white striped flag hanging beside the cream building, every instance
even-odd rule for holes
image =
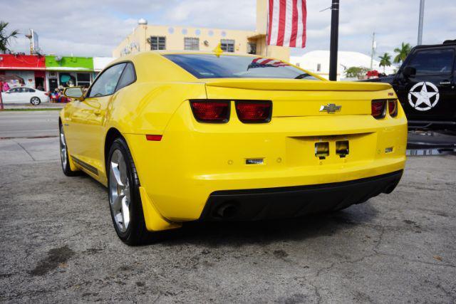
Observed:
[[[306,46],[306,0],[269,0],[267,44]]]

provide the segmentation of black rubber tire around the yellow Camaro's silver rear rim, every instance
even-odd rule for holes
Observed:
[[[125,161],[125,167],[127,172],[127,178],[130,189],[130,202],[128,204],[129,218],[130,222],[125,231],[121,231],[118,223],[115,221],[115,215],[113,208],[111,207],[111,183],[113,183],[111,177],[111,159],[113,158],[114,152],[116,150],[120,151]],[[117,152],[116,152],[117,153]],[[136,172],[135,162],[133,162],[133,157],[131,156],[128,145],[123,139],[123,137],[118,137],[114,140],[113,144],[110,147],[108,153],[108,162],[106,163],[106,175],[108,176],[108,201],[110,206],[111,219],[113,220],[113,225],[115,232],[118,237],[126,244],[130,246],[137,246],[143,243],[147,243],[152,240],[152,236],[156,235],[155,233],[150,233],[145,227],[144,213],[142,211],[142,202],[140,196],[140,180],[138,177],[138,172]],[[115,182],[115,181],[114,181]]]

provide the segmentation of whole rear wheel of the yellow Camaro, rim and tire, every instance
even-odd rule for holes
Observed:
[[[150,237],[145,228],[140,181],[133,157],[123,138],[114,140],[107,163],[108,194],[115,232],[128,245],[140,245]]]

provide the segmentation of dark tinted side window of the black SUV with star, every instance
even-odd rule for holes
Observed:
[[[442,50],[417,51],[408,65],[416,69],[416,75],[450,74],[455,59],[455,51]]]

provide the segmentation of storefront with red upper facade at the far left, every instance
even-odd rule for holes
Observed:
[[[45,66],[44,56],[0,54],[0,75],[16,76],[9,80],[10,88],[24,85],[46,90]]]

